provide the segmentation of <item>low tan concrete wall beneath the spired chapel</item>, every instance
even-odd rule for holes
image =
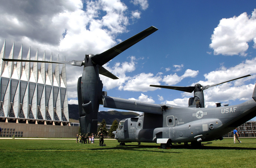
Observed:
[[[76,126],[25,124],[11,122],[0,122],[0,127],[2,129],[2,136],[0,137],[12,137],[14,134],[16,138],[75,138],[79,130],[79,127]],[[13,129],[15,129],[14,133]],[[4,133],[4,131],[6,132]],[[9,131],[9,133],[7,133],[7,131]],[[6,134],[6,136],[4,136],[4,134]],[[9,136],[10,134],[12,135]]]

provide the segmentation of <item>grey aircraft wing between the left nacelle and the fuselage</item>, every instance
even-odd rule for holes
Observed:
[[[142,101],[121,99],[109,96],[103,96],[103,107],[139,111],[152,114],[162,114],[162,108],[159,104],[146,103]]]

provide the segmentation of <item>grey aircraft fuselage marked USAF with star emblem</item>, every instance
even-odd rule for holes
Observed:
[[[216,108],[164,105],[168,108],[162,115],[144,113],[120,121],[115,138],[119,142],[206,142],[222,139],[224,134],[256,116],[253,99]]]

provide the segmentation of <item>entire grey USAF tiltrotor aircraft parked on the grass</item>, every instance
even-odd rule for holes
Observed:
[[[200,145],[201,142],[222,140],[224,134],[256,116],[256,89],[252,94],[253,99],[242,104],[234,106],[217,104],[216,108],[204,107],[203,90],[236,79],[207,86],[200,84],[190,87],[150,85],[191,93],[194,91],[194,97],[189,99],[188,107],[152,104],[107,96],[107,92],[102,91],[103,84],[99,74],[111,79],[118,78],[102,66],[157,30],[151,26],[101,54],[86,54],[82,61],[36,61],[83,66],[83,75],[78,79],[77,84],[79,121],[83,133],[97,131],[100,104],[107,108],[144,112],[138,117],[120,121],[117,130],[113,132],[120,145],[125,145],[125,142],[138,142],[139,144],[156,142],[161,144],[161,148],[166,148],[176,142],[191,142],[191,145]],[[21,61],[20,59],[3,60]],[[22,60],[21,62],[35,61]]]

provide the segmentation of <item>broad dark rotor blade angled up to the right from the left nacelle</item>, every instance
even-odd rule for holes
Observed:
[[[92,57],[93,62],[98,65],[104,65],[109,62],[111,59],[115,58],[118,54],[126,50],[127,48],[133,46],[140,40],[144,39],[145,37],[149,36],[150,34],[154,33],[158,29],[154,26],[148,27],[147,29],[143,30],[142,32],[134,35],[133,37],[123,41],[122,43],[110,48],[107,51],[104,51],[101,54],[96,54]]]

